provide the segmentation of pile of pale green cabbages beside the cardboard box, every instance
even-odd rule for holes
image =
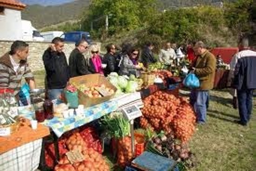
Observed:
[[[135,75],[119,76],[116,72],[111,72],[107,79],[117,88],[116,94],[123,92],[136,92],[141,90],[142,79],[137,79]]]

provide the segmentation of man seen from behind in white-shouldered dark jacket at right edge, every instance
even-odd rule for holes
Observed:
[[[230,62],[229,84],[235,88],[238,99],[240,120],[238,124],[247,125],[252,112],[253,90],[256,89],[256,52],[249,50],[249,40],[240,39],[240,52]]]

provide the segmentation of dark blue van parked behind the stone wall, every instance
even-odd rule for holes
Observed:
[[[67,32],[64,33],[61,38],[64,39],[64,41],[67,42],[75,42],[77,43],[81,39],[85,39],[89,44],[92,43],[90,33],[88,32]]]

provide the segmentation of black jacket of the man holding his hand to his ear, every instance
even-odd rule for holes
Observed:
[[[43,54],[48,89],[65,88],[69,80],[69,67],[65,53],[51,51],[48,48]]]

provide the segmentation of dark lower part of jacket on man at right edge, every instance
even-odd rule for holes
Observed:
[[[232,87],[241,89],[256,89],[256,56],[238,59]]]

